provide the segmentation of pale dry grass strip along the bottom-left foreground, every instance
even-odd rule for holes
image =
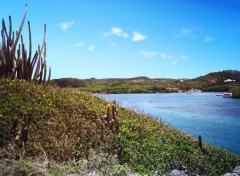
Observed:
[[[0,176],[9,175],[41,175],[60,176],[75,174],[86,175],[135,175],[127,165],[119,164],[116,157],[107,154],[93,154],[86,160],[56,163],[44,160],[2,160],[0,162]]]

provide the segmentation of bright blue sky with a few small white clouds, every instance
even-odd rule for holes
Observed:
[[[239,0],[0,0],[56,78],[196,78],[240,70]]]

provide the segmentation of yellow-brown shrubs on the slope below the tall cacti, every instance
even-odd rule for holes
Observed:
[[[104,123],[106,102],[99,98],[17,80],[2,80],[0,96],[0,145],[10,143],[19,151],[13,158],[37,156],[42,149],[58,161],[87,157],[90,149],[113,152],[113,130]]]

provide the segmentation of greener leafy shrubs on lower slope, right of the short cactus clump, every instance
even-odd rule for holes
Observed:
[[[117,148],[121,161],[137,172],[163,175],[172,169],[189,175],[221,175],[240,163],[240,157],[203,143],[159,122],[150,115],[120,111]]]

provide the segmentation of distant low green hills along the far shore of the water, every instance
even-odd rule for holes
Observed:
[[[63,83],[64,80],[64,83]],[[234,80],[233,82],[225,82]],[[240,97],[240,71],[226,70],[209,73],[194,79],[165,79],[148,77],[109,78],[109,79],[55,79],[51,85],[59,87],[77,87],[93,93],[159,93],[186,92],[201,90],[204,92],[233,92]]]

